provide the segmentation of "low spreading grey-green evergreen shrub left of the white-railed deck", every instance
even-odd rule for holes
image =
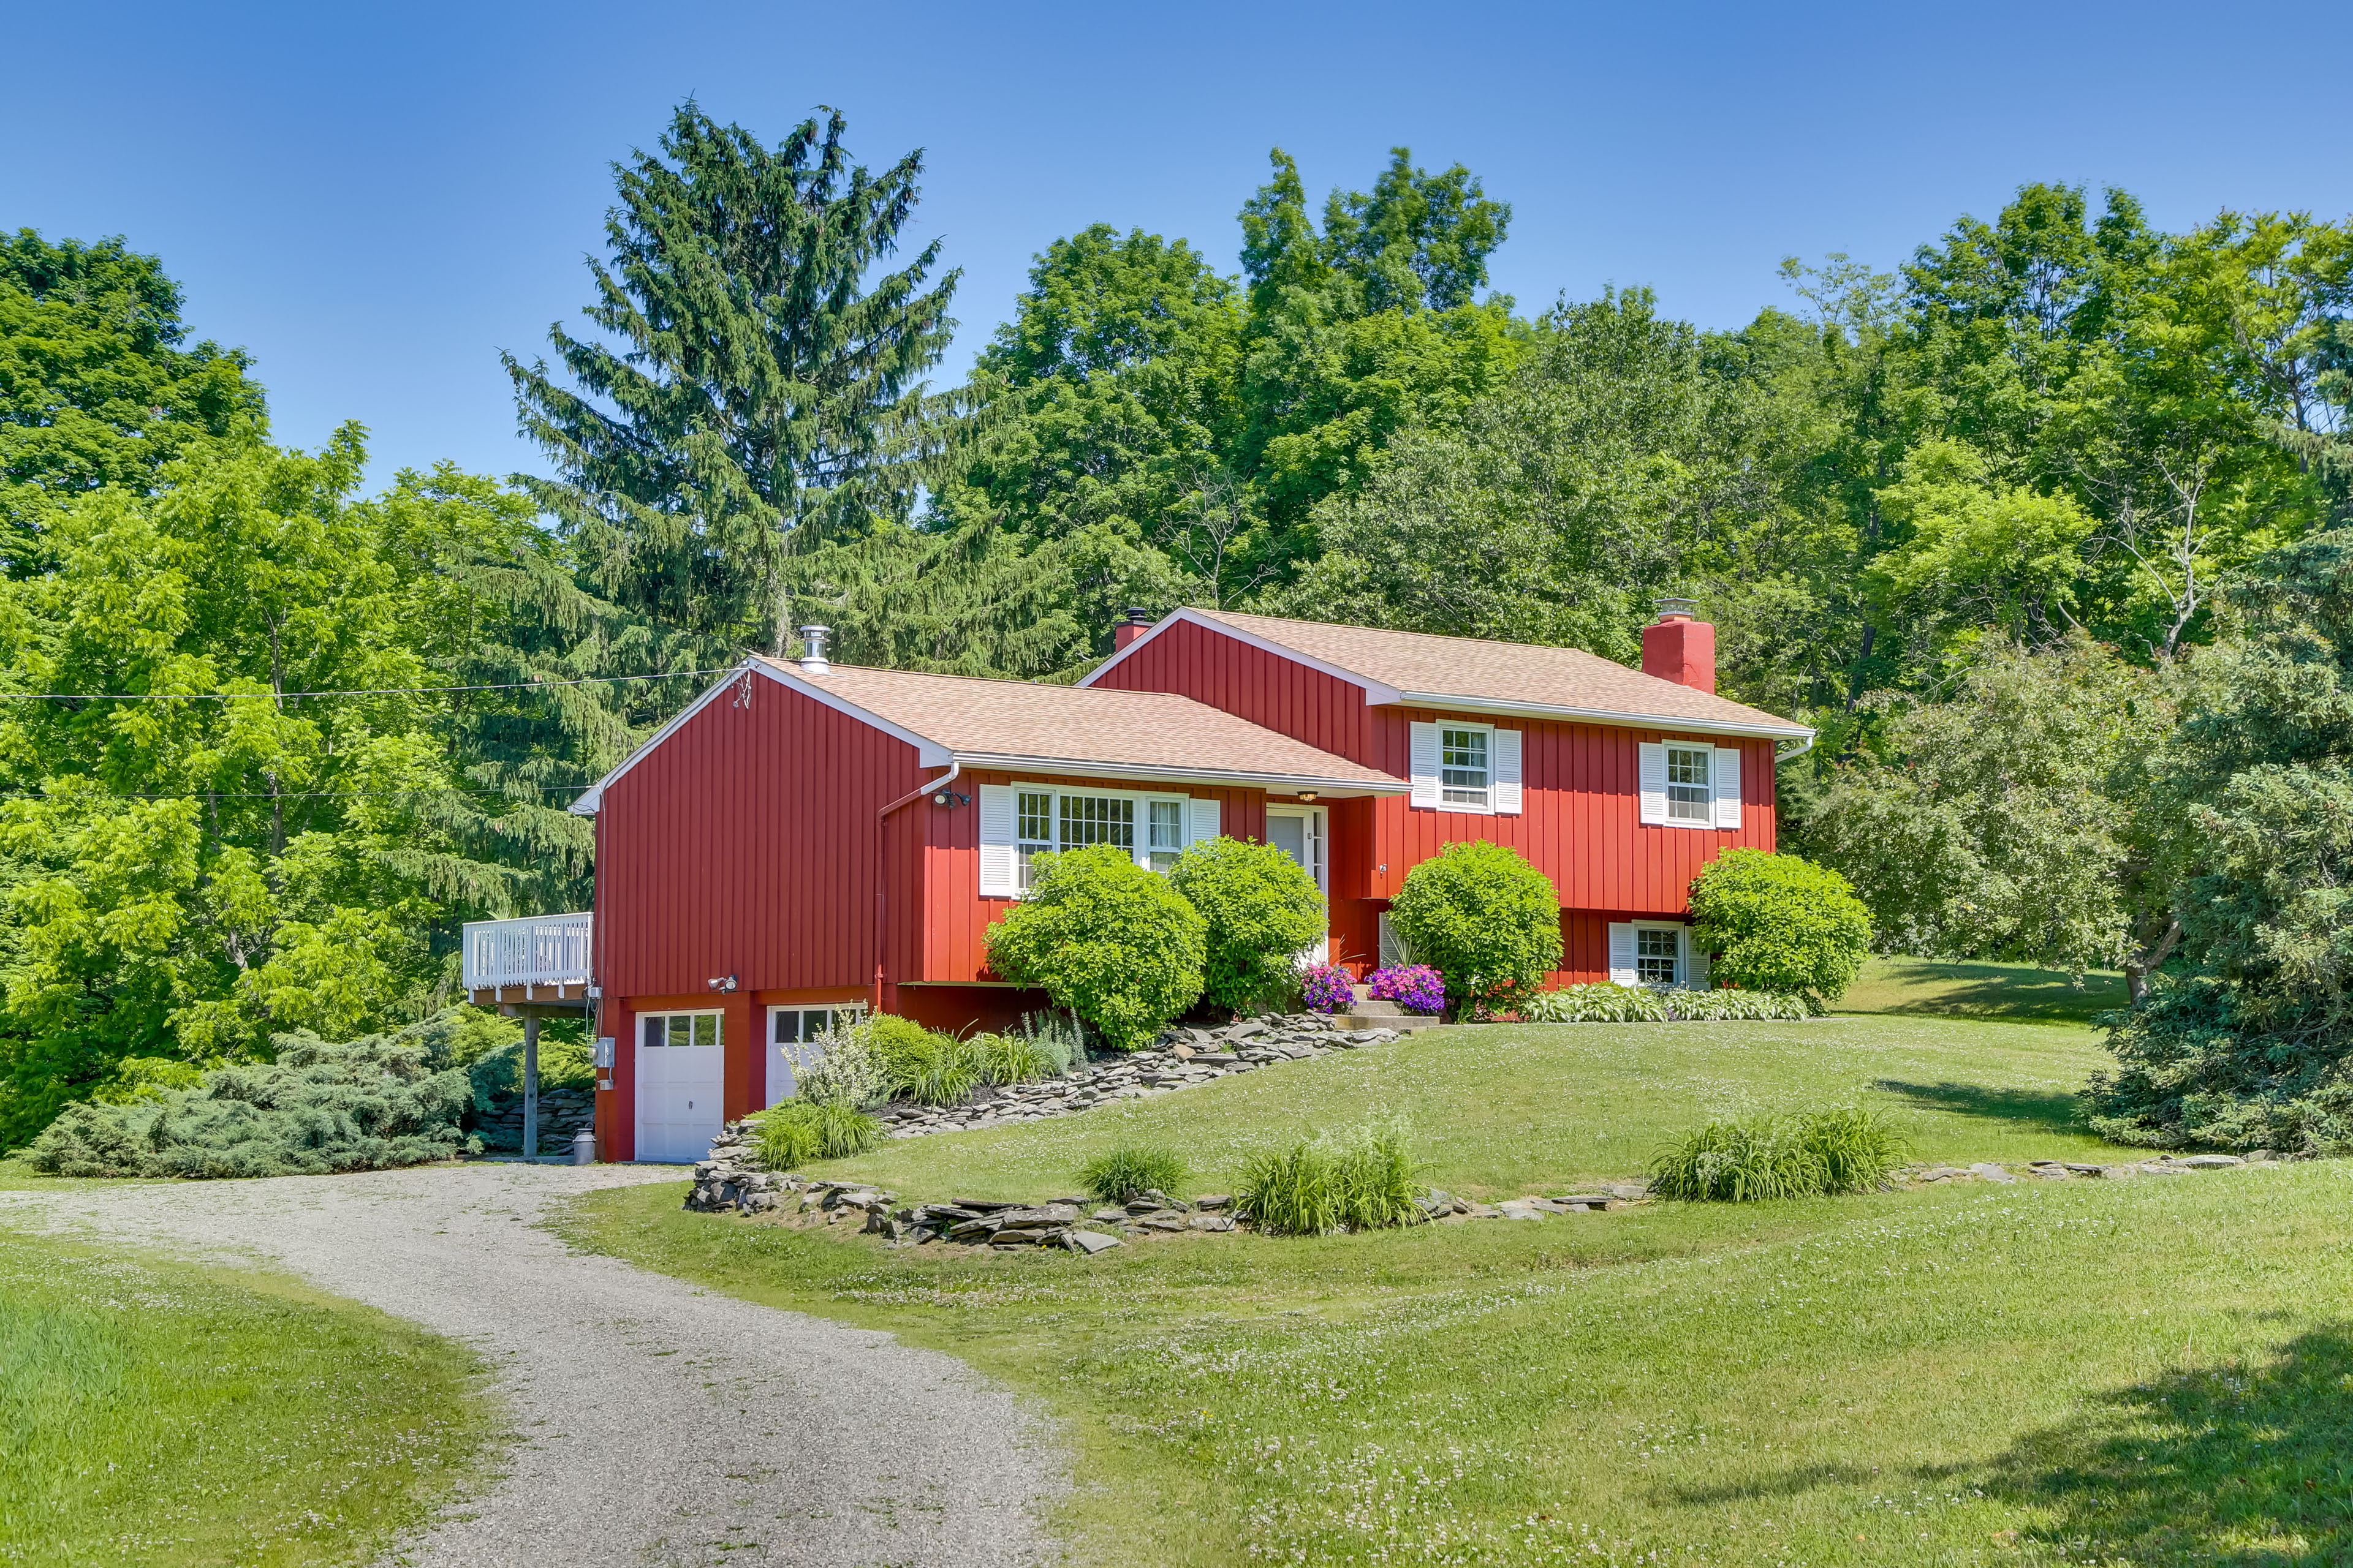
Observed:
[[[278,1060],[214,1067],[132,1105],[68,1105],[26,1152],[49,1175],[327,1175],[452,1159],[473,1086],[461,1009],[353,1041],[275,1034]]]

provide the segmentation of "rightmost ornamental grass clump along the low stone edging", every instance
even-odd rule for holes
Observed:
[[[1875,1192],[1901,1159],[1904,1140],[1861,1107],[1741,1117],[1711,1121],[1659,1154],[1649,1190],[1713,1204]]]

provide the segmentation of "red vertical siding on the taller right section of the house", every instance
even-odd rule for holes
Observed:
[[[1226,708],[1351,762],[1407,778],[1417,719],[1466,719],[1518,729],[1522,809],[1518,816],[1414,809],[1405,797],[1334,804],[1334,910],[1351,959],[1377,952],[1379,905],[1445,844],[1494,839],[1544,870],[1560,891],[1560,978],[1609,973],[1607,924],[1628,917],[1682,917],[1689,884],[1725,849],[1774,846],[1772,741],[1734,741],[1678,729],[1565,724],[1431,708],[1374,708],[1351,682],[1179,621],[1104,670],[1101,686],[1176,691]],[[1732,830],[1642,823],[1638,766],[1642,741],[1699,741],[1741,750],[1741,825]],[[1386,870],[1381,870],[1386,867]],[[1369,900],[1348,910],[1341,900]]]

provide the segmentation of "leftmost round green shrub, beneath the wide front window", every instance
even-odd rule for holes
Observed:
[[[1115,844],[1038,856],[1035,882],[988,929],[988,964],[1038,985],[1113,1051],[1134,1051],[1200,999],[1207,924],[1167,877]]]

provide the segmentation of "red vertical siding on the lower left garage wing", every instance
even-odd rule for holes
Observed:
[[[915,748],[779,682],[751,679],[706,703],[607,785],[598,806],[595,954],[600,1030],[614,1091],[598,1095],[607,1159],[635,1157],[635,1020],[673,1009],[725,1013],[729,1119],[767,1095],[765,1013],[786,1001],[873,994],[875,813],[941,769]],[[981,783],[1132,792],[1134,780],[1068,773],[960,773]],[[1172,788],[1217,799],[1228,832],[1264,837],[1266,792]],[[1012,905],[981,898],[979,809],[927,797],[889,818],[885,1006],[941,1027],[995,1023],[1026,992],[991,985],[981,933]],[[734,992],[711,980],[734,976]],[[904,990],[901,990],[904,985]],[[932,990],[939,987],[939,990]],[[1033,999],[1031,999],[1033,1001]]]

